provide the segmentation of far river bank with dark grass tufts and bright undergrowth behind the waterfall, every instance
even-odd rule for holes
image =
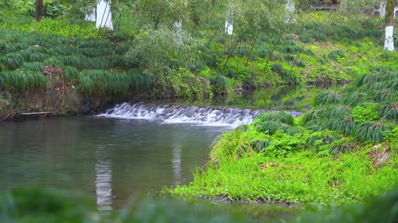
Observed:
[[[191,41],[184,42],[188,49],[179,48],[174,32],[166,28],[97,32],[90,21],[61,17],[36,23],[17,12],[4,14],[8,19],[0,23],[0,119],[32,112],[72,114],[76,106],[95,105],[92,111],[98,112],[107,107],[103,103],[132,98],[203,101],[253,89],[332,87],[381,63],[398,64],[396,52],[378,46],[383,33],[378,24],[361,16],[359,28],[346,24],[344,16],[304,13],[289,34],[259,32],[254,45],[242,38],[239,47],[224,32],[183,33]],[[120,17],[125,25],[125,15]],[[320,23],[326,18],[336,23]],[[167,44],[152,49],[155,37]]]

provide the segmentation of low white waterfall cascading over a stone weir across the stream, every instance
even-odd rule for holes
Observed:
[[[98,116],[125,119],[160,119],[164,123],[193,123],[196,125],[215,125],[236,127],[250,124],[254,118],[265,110],[251,110],[242,108],[213,108],[182,105],[146,104],[118,104]],[[298,117],[302,112],[289,112]]]

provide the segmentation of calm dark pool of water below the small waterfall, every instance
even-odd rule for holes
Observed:
[[[0,123],[0,189],[79,189],[101,210],[136,192],[187,184],[228,127],[101,117]]]

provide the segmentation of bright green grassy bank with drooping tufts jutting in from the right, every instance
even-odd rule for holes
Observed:
[[[176,196],[230,200],[355,202],[398,180],[398,71],[384,67],[317,94],[298,118],[266,112],[226,132],[194,181]]]

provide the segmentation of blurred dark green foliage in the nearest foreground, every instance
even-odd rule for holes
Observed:
[[[397,190],[378,196],[365,204],[289,217],[254,219],[237,211],[228,211],[212,204],[190,204],[181,200],[137,197],[118,212],[100,215],[94,201],[70,191],[16,189],[0,194],[2,222],[29,223],[94,223],[94,222],[297,222],[297,223],[359,223],[396,222]],[[265,208],[265,207],[263,207]]]

